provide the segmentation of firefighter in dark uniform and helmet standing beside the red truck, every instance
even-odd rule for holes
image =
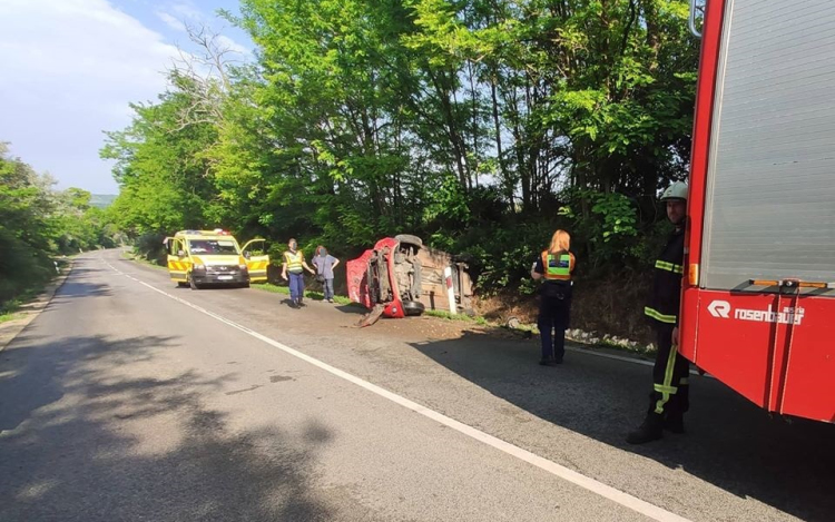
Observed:
[[[687,184],[676,181],[661,195],[667,218],[675,230],[655,264],[652,293],[644,313],[657,334],[658,352],[652,368],[652,392],[644,423],[627,435],[630,444],[644,444],[664,436],[664,430],[684,433],[684,415],[689,408],[688,361],[678,354],[678,311],[685,257]]]

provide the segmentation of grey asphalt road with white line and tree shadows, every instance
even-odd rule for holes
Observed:
[[[696,378],[630,447],[646,366],[282,299],[81,257],[0,353],[0,520],[834,518],[835,426]]]

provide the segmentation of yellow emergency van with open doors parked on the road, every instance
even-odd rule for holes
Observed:
[[[166,237],[168,274],[177,286],[199,289],[206,285],[247,287],[265,283],[269,256],[265,239],[253,239],[243,247],[226,230],[180,230]],[[261,244],[255,247],[254,245]],[[256,248],[261,249],[259,255]]]

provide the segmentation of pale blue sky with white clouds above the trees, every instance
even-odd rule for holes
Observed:
[[[0,141],[58,188],[116,194],[98,156],[104,130],[130,124],[189,50],[183,22],[208,24],[252,59],[246,33],[218,18],[237,0],[0,0]]]

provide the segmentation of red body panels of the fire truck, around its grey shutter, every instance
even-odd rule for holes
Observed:
[[[679,351],[769,412],[835,422],[835,298],[698,286],[725,3],[707,2],[703,29]]]

